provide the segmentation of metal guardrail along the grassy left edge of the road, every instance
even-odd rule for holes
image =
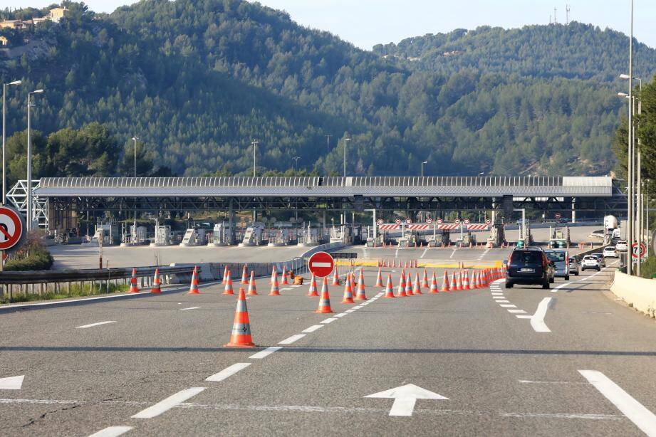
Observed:
[[[194,266],[161,266],[138,267],[137,278],[155,275],[155,268],[160,269],[160,275],[191,275]],[[0,272],[0,284],[44,284],[67,283],[78,281],[106,281],[126,279],[132,276],[132,268],[105,269],[69,269],[69,270],[28,270]]]

